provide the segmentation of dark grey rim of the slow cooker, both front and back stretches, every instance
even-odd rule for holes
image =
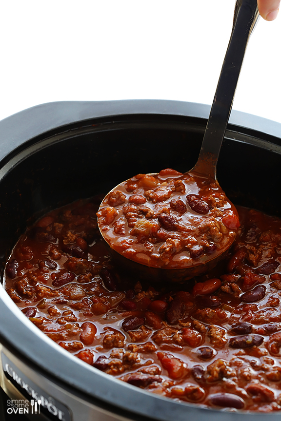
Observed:
[[[142,112],[145,113],[144,114],[149,114],[149,110],[147,108],[145,108],[145,104],[149,105],[148,108],[153,108],[154,112],[151,111],[151,113],[153,114],[167,114],[167,115],[185,115],[185,116],[195,116],[198,118],[202,118],[202,119],[206,119],[208,116],[208,110],[209,107],[203,104],[194,104],[192,103],[184,103],[184,102],[180,102],[180,101],[152,101],[152,100],[136,100],[136,101],[102,101],[103,104],[108,104],[108,102],[112,103],[112,107],[119,107],[120,108],[120,114],[116,114],[116,115],[124,115],[124,114],[140,114],[140,108],[142,109]],[[134,104],[133,104],[134,102]],[[118,104],[117,104],[118,103]],[[55,104],[55,105],[54,105]],[[48,103],[48,104],[42,104],[42,106],[36,106],[36,107],[32,107],[31,109],[28,110],[24,110],[23,114],[18,113],[17,115],[8,117],[9,119],[9,124],[7,125],[7,119],[2,120],[0,122],[0,129],[1,127],[3,127],[3,131],[0,130],[0,132],[2,133],[0,136],[0,143],[3,144],[4,139],[7,139],[7,137],[5,137],[6,135],[12,135],[12,128],[14,127],[14,136],[12,135],[10,138],[12,139],[11,144],[9,145],[10,147],[10,152],[12,152],[15,148],[17,148],[20,144],[22,144],[23,142],[27,141],[30,139],[27,138],[28,137],[28,124],[26,122],[24,128],[25,131],[21,131],[19,133],[18,131],[18,126],[17,124],[19,124],[19,117],[20,117],[20,121],[22,121],[23,119],[30,119],[32,116],[32,120],[33,123],[36,121],[36,118],[38,117],[37,115],[37,111],[38,111],[38,107],[40,108],[40,118],[44,115],[44,110],[46,111],[46,109],[48,111],[50,111],[53,107],[54,113],[56,113],[56,110],[58,109],[57,107],[61,105],[62,109],[64,110],[63,112],[67,115],[67,108],[68,106],[71,105],[71,112],[74,113],[74,109],[75,106],[77,105],[78,107],[78,111],[76,111],[77,113],[79,111],[81,111],[80,106],[83,105],[91,105],[91,104],[95,104],[95,106],[97,104],[100,104],[100,102],[77,102],[77,101],[69,101],[69,102],[57,102],[57,103]],[[105,105],[106,105],[105,104]],[[67,106],[66,106],[67,105]],[[110,104],[108,104],[110,105]],[[135,108],[133,107],[133,105],[135,105]],[[188,106],[187,106],[188,105]],[[196,108],[196,106],[198,106]],[[73,108],[74,107],[74,108]],[[130,112],[125,113],[125,108],[129,107],[130,108]],[[160,110],[160,108],[162,107],[162,110]],[[166,107],[166,108],[165,108]],[[175,109],[175,108],[176,109]],[[179,114],[180,113],[180,109],[181,107],[185,107],[184,112],[186,114]],[[189,107],[192,107],[192,112],[191,109]],[[94,107],[95,108],[95,107]],[[193,115],[189,115],[188,112],[191,112]],[[41,112],[43,112],[43,114],[41,114]],[[181,109],[181,112],[183,113],[183,110]],[[87,113],[89,113],[89,110],[87,109]],[[93,110],[92,110],[92,113]],[[109,114],[107,114],[107,116],[111,116],[113,113],[113,109],[110,109],[109,107]],[[75,114],[75,113],[74,113]],[[100,114],[102,114],[100,112]],[[243,118],[247,118],[247,115],[244,115],[244,113],[239,113],[239,115],[241,115],[241,117]],[[238,117],[239,117],[238,115]],[[96,110],[96,114],[94,113],[94,115],[91,116],[91,118],[95,118],[95,117],[100,117],[103,115],[97,115],[97,110]],[[76,115],[77,117],[77,115]],[[79,121],[85,121],[85,114],[80,113],[80,118],[78,118],[77,120],[73,120],[73,115],[71,117],[64,117],[64,122],[65,120],[68,118],[68,123],[73,123],[75,121],[79,122]],[[256,116],[250,116],[250,117],[256,117]],[[46,119],[46,115],[44,117]],[[256,117],[257,118],[257,117]],[[254,120],[256,120],[256,118],[249,118],[249,122],[251,120],[251,123],[254,122]],[[61,119],[61,115],[58,116],[57,119],[54,119],[51,122],[47,122],[46,126],[48,125],[48,129],[45,130],[45,126],[42,126],[42,121],[39,119],[38,124],[35,124],[35,126],[33,127],[33,134],[34,136],[32,137],[36,137],[37,135],[41,134],[41,133],[45,133],[46,131],[49,131],[51,129],[54,129],[56,126],[54,126],[54,121],[60,120],[60,123],[62,122]],[[70,121],[71,120],[71,121]],[[259,117],[258,120],[260,121]],[[276,129],[278,125],[279,127],[279,136],[281,133],[281,124],[276,123],[272,125],[272,130],[270,130],[271,128],[271,123],[275,123],[275,122],[271,122],[270,120],[266,120],[266,127],[267,127],[267,132],[264,133],[268,133],[271,135],[275,135],[276,136]],[[60,124],[59,123],[59,124]],[[248,124],[249,125],[249,124]],[[242,125],[239,125],[240,127],[243,127]],[[254,125],[250,124],[250,128],[253,130],[256,130],[257,128]],[[60,127],[60,126],[59,126]],[[8,133],[9,132],[9,133]],[[35,133],[36,132],[36,133]],[[278,137],[279,137],[278,136]],[[9,150],[6,149],[6,153],[10,153],[8,152]],[[1,151],[2,156],[0,156],[0,159],[3,158],[4,156],[6,156],[6,153],[4,151],[4,149]],[[158,396],[158,395],[154,395],[151,394],[149,392],[137,389],[127,383],[123,383],[120,382],[92,367],[88,367],[86,366],[83,362],[80,362],[80,360],[78,360],[77,358],[73,357],[71,354],[69,354],[67,351],[63,350],[62,348],[60,349],[60,347],[58,347],[57,344],[53,343],[49,338],[47,338],[42,332],[40,332],[28,319],[25,318],[25,316],[20,312],[20,310],[14,305],[14,303],[10,300],[10,298],[6,295],[6,293],[1,294],[3,295],[2,297],[0,297],[0,300],[2,301],[2,304],[0,306],[0,325],[1,327],[1,334],[2,336],[5,338],[6,341],[8,341],[10,344],[11,342],[9,341],[9,336],[10,336],[10,332],[13,331],[15,336],[17,337],[18,340],[23,341],[23,343],[25,343],[25,350],[21,350],[21,352],[23,352],[23,354],[25,355],[26,358],[28,358],[28,350],[30,349],[30,345],[32,345],[33,348],[36,349],[36,353],[37,353],[37,361],[36,363],[33,362],[33,364],[38,364],[40,367],[42,367],[44,369],[44,371],[49,372],[52,376],[54,376],[54,369],[61,369],[61,367],[64,367],[64,375],[61,375],[61,372],[57,372],[60,374],[57,374],[56,376],[58,377],[58,379],[60,381],[62,381],[63,383],[66,384],[74,384],[76,385],[76,387],[78,387],[80,390],[84,391],[85,393],[89,394],[89,395],[93,395],[96,398],[103,400],[105,402],[110,402],[113,403],[115,405],[118,405],[120,407],[122,407],[122,405],[124,406],[124,404],[122,402],[120,402],[120,398],[122,401],[124,401],[126,403],[126,405],[131,404],[131,407],[127,409],[133,411],[133,412],[137,412],[139,414],[142,414],[144,416],[148,416],[148,417],[154,417],[154,418],[158,418],[158,419],[169,419],[169,418],[163,418],[163,415],[165,415],[165,417],[168,416],[168,414],[171,414],[173,417],[176,417],[178,420],[183,419],[182,418],[182,409],[179,408],[186,408],[188,407],[188,411],[189,411],[189,415],[190,417],[195,417],[195,411],[196,411],[196,415],[198,416],[198,410],[200,409],[201,411],[207,409],[208,415],[211,417],[211,414],[213,413],[214,417],[216,417],[216,419],[220,419],[221,420],[225,420],[225,416],[226,416],[226,412],[224,411],[218,411],[216,409],[212,409],[212,408],[200,408],[199,406],[195,406],[193,404],[188,404],[188,403],[182,403],[182,402],[174,402],[171,400],[167,400],[164,397]],[[13,311],[13,306],[15,310],[17,311]],[[12,308],[11,308],[12,307]],[[17,314],[18,312],[18,314]],[[19,326],[19,319],[21,320],[21,324]],[[8,321],[8,323],[7,323]],[[34,335],[35,334],[35,335]],[[44,346],[47,347],[48,349],[48,354],[51,357],[50,360],[52,361],[52,363],[56,363],[55,366],[53,365],[52,370],[50,370],[50,367],[47,366],[46,361],[44,361],[44,359],[42,358],[43,355],[45,355],[46,350],[42,349],[43,348],[43,344]],[[15,346],[16,348],[18,348],[18,350],[20,351],[20,346],[15,345],[15,344],[11,344],[12,347]],[[28,346],[26,346],[28,345]],[[33,349],[34,350],[34,349]],[[58,358],[59,356],[59,358]],[[57,358],[56,358],[57,357]],[[30,357],[29,357],[30,358]],[[34,358],[33,358],[34,359]],[[67,364],[65,364],[65,362]],[[73,363],[76,364],[76,367],[78,367],[77,370],[73,370]],[[75,376],[71,375],[74,371],[77,371],[77,373],[75,374]],[[56,371],[55,371],[56,372]],[[67,374],[67,376],[65,375]],[[78,375],[79,374],[79,375]],[[91,384],[91,379],[93,379],[93,377],[91,376],[95,376],[97,377],[98,381],[99,381],[99,393],[93,393],[92,390],[90,390],[88,388],[87,390],[87,384]],[[80,377],[80,382],[77,382],[77,378]],[[85,381],[86,379],[89,379],[89,382]],[[111,387],[112,385],[114,385],[113,387]],[[110,390],[109,390],[110,389]],[[114,390],[113,390],[114,389]],[[118,389],[118,390],[117,390]],[[119,390],[121,390],[121,392],[119,392]],[[107,396],[104,396],[104,391],[107,391]],[[95,391],[97,392],[97,391]],[[110,392],[110,393],[108,393]],[[140,396],[143,396],[143,400],[140,399]],[[114,399],[114,402],[112,402],[112,399]],[[157,412],[157,413],[156,413]],[[237,411],[238,413],[240,413],[240,411]],[[221,414],[221,415],[220,415]],[[232,416],[232,414],[234,415],[234,413],[229,413],[229,416]],[[257,415],[263,415],[264,414],[259,414],[259,413],[243,413],[243,415],[248,415],[248,419],[251,418],[251,416],[257,416]],[[203,415],[201,413],[201,415]],[[237,415],[237,413],[236,413]],[[275,414],[276,416],[278,416],[278,414]],[[275,419],[275,415],[274,414],[270,414],[270,419]],[[162,418],[161,418],[162,417]],[[219,418],[218,418],[219,417]],[[273,417],[273,418],[272,418]],[[277,417],[276,417],[277,418]],[[211,419],[211,418],[210,418]],[[214,418],[215,419],[215,418]],[[264,418],[263,418],[264,419]]]

